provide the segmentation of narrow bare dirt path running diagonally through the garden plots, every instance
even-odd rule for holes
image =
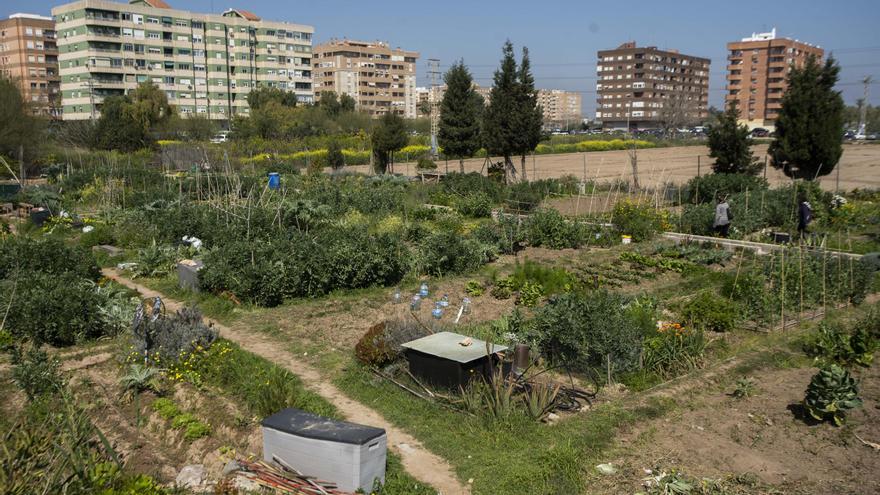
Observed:
[[[181,303],[167,298],[164,294],[122,277],[116,270],[105,268],[103,274],[140,292],[144,297],[161,297],[168,310],[176,311],[182,307]],[[283,366],[299,376],[306,387],[336,406],[349,421],[384,428],[388,435],[388,443],[400,455],[404,468],[419,481],[431,485],[442,495],[470,493],[470,490],[456,479],[452,466],[448,462],[429,452],[418,440],[396,428],[376,411],[347,397],[317,369],[304,363],[299,356],[284,350],[282,346],[278,345],[278,342],[257,332],[244,333],[216,321],[209,321],[214,324],[214,328],[220,332],[221,337],[235,342],[243,349]]]

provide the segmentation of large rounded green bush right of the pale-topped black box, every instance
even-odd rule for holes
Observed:
[[[541,307],[527,339],[550,361],[576,371],[601,375],[632,371],[639,366],[642,335],[650,329],[629,308],[622,294],[594,291],[551,297]]]

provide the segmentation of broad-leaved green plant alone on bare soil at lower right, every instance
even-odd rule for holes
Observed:
[[[810,380],[804,397],[804,408],[813,418],[824,421],[831,419],[840,426],[846,418],[846,411],[861,407],[859,385],[845,369],[832,364],[822,368]]]

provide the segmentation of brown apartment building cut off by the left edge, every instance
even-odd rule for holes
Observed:
[[[0,74],[21,85],[35,114],[60,116],[61,79],[51,17],[13,14],[0,20]]]

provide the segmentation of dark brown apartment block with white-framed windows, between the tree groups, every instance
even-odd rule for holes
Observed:
[[[596,119],[605,128],[688,125],[708,116],[709,63],[634,41],[599,51]]]

